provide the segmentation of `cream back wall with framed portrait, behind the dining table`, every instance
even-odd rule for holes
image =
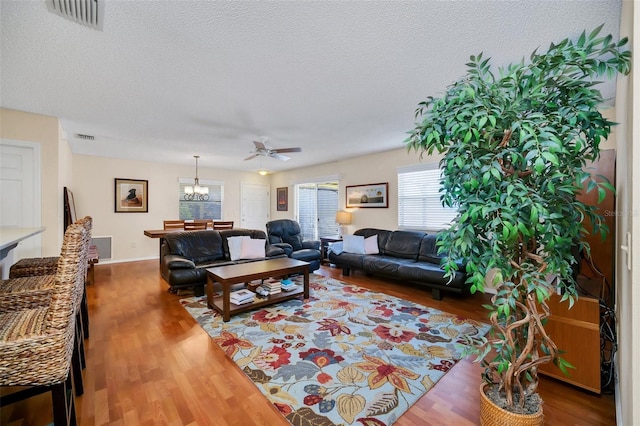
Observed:
[[[112,261],[158,257],[158,240],[145,229],[162,229],[162,221],[178,218],[178,178],[195,177],[193,166],[73,156],[73,191],[78,217],[93,218],[93,236],[112,237]],[[257,173],[198,167],[200,179],[224,182],[222,219],[240,223],[240,183],[268,183]],[[115,178],[148,181],[148,213],[115,213]],[[272,197],[273,198],[273,197]]]

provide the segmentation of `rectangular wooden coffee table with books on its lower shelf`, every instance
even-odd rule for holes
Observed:
[[[256,297],[253,302],[235,305],[229,300],[233,284],[246,283],[264,278],[280,278],[291,274],[302,273],[304,285],[292,291],[282,291],[264,298]],[[261,306],[273,305],[284,300],[295,299],[301,295],[309,298],[309,263],[288,257],[262,260],[257,262],[240,263],[236,265],[216,266],[207,268],[207,305],[222,314],[222,320],[227,322],[231,315],[250,311]],[[222,286],[222,295],[215,295],[214,283]]]

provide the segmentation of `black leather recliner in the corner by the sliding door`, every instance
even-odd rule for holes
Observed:
[[[309,272],[320,267],[320,241],[302,240],[300,224],[291,219],[277,219],[267,222],[269,244],[281,247],[292,259],[309,262]]]

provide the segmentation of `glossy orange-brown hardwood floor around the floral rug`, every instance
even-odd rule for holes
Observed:
[[[445,294],[322,266],[316,273],[484,321],[486,295]],[[169,294],[158,261],[96,265],[88,288],[90,338],[85,393],[76,398],[80,425],[289,425],[206,332]],[[1,356],[1,355],[0,355]],[[460,361],[396,425],[475,425],[480,367]],[[543,377],[548,425],[615,425],[611,395],[595,395]],[[46,425],[42,395],[4,407],[2,425]]]

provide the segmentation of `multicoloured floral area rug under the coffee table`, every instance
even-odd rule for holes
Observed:
[[[301,277],[298,281],[302,282]],[[487,324],[320,275],[311,298],[231,317],[180,303],[294,425],[391,425]]]

